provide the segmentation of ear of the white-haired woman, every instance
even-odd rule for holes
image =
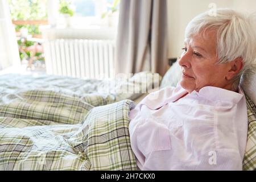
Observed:
[[[242,57],[237,57],[237,59],[230,62],[230,69],[226,74],[226,80],[232,80],[243,68]]]

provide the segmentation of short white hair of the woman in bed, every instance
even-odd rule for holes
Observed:
[[[218,64],[228,63],[242,57],[243,68],[233,78],[233,88],[240,83],[241,75],[256,62],[255,14],[243,14],[232,9],[217,9],[216,16],[208,11],[197,15],[188,23],[185,38],[191,38],[206,30],[217,31]]]

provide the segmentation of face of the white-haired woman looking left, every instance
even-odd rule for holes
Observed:
[[[230,65],[216,64],[217,56],[216,32],[206,31],[205,36],[196,35],[185,39],[184,51],[179,64],[182,68],[180,85],[191,93],[199,92],[204,86],[225,88],[226,73]]]

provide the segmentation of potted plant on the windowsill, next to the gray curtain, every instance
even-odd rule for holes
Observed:
[[[108,18],[108,25],[110,27],[116,26],[118,23],[118,14],[117,14],[117,10],[118,10],[118,5],[119,5],[120,0],[115,0],[113,2],[113,4],[109,4],[107,5],[108,7],[108,11],[106,11],[105,13],[103,13],[101,15],[101,18]]]

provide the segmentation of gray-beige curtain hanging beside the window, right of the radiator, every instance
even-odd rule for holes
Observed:
[[[167,71],[166,0],[121,0],[115,57],[116,73]]]

